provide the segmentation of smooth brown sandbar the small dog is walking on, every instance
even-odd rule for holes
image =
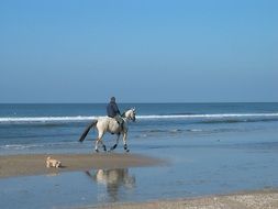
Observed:
[[[47,156],[60,161],[62,167],[47,168]],[[158,164],[163,164],[163,161],[127,153],[7,155],[0,156],[0,178],[88,170],[92,168],[143,167]]]

